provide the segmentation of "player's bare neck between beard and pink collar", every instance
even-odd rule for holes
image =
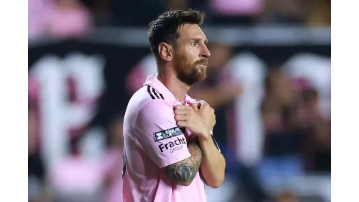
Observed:
[[[172,69],[173,68],[161,68],[161,71],[158,71],[156,77],[164,86],[166,86],[173,96],[175,96],[176,100],[182,103],[184,96],[191,86],[179,81],[176,73]]]

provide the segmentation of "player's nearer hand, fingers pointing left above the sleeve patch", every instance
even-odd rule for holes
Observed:
[[[211,135],[212,127],[209,127],[191,106],[179,104],[175,106],[174,110],[179,128],[186,128],[199,138]]]

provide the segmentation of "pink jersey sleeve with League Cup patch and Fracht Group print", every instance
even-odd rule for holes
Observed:
[[[138,144],[160,168],[191,156],[186,137],[177,127],[173,107],[161,99],[141,107],[135,134]]]

